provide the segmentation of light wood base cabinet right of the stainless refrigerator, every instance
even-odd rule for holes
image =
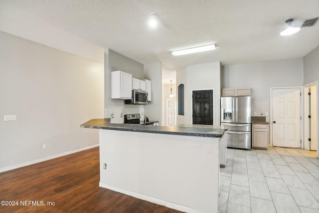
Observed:
[[[268,149],[269,124],[253,124],[253,148]]]

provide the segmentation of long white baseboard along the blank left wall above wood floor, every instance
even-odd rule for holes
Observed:
[[[72,150],[72,151],[68,151],[68,152],[64,152],[64,153],[60,153],[60,154],[57,154],[57,155],[53,155],[53,156],[49,156],[49,157],[45,157],[45,158],[40,158],[40,159],[34,160],[34,161],[28,161],[28,162],[25,162],[25,163],[22,163],[22,164],[17,164],[17,165],[13,165],[13,166],[3,167],[3,168],[0,168],[0,173],[1,172],[5,172],[5,171],[9,171],[9,170],[13,170],[13,169],[17,169],[17,168],[20,168],[20,167],[25,167],[25,166],[29,166],[29,165],[32,165],[32,164],[40,163],[40,162],[43,162],[43,161],[51,160],[51,159],[54,159],[54,158],[62,157],[62,156],[65,156],[65,155],[70,155],[70,154],[73,154],[73,153],[76,153],[76,152],[80,152],[80,151],[91,149],[91,148],[98,147],[98,146],[100,146],[100,144],[95,144],[95,145],[92,145],[92,146],[88,146],[88,147],[84,147],[84,148],[80,148],[80,149],[76,149],[76,150]]]

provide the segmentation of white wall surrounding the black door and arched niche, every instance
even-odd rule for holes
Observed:
[[[179,79],[180,75],[186,74],[185,82]],[[213,120],[215,125],[220,125],[220,62],[211,62],[204,64],[195,64],[186,66],[186,70],[178,70],[176,75],[177,86],[180,83],[184,84],[184,102],[185,116],[183,119],[185,124],[192,123],[192,90],[214,90],[214,115]],[[181,116],[177,117],[177,120]],[[177,122],[180,124],[180,121]]]

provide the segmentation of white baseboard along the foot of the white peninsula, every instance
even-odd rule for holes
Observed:
[[[146,196],[146,195],[142,195],[142,194],[139,194],[139,193],[123,190],[123,189],[120,189],[120,188],[117,188],[117,187],[112,187],[112,186],[110,186],[108,184],[103,184],[101,182],[100,182],[99,186],[102,187],[102,188],[105,188],[105,189],[109,189],[109,190],[112,190],[112,191],[115,191],[115,192],[118,192],[118,193],[122,193],[122,194],[125,194],[125,195],[128,195],[128,196],[132,196],[134,198],[138,198],[138,199],[141,199],[141,200],[144,200],[144,201],[148,201],[148,202],[151,202],[151,203],[154,203],[154,204],[158,204],[160,206],[165,206],[165,207],[168,207],[170,209],[178,210],[178,211],[181,211],[181,212],[185,212],[185,213],[204,213],[204,212],[201,212],[201,211],[198,211],[198,210],[194,210],[194,209],[191,209],[191,208],[188,208],[188,207],[185,207],[185,206],[181,206],[181,205],[178,205],[178,204],[174,204],[174,203],[170,203],[170,202],[167,202],[167,201],[163,201],[163,200],[160,200],[160,199],[157,199],[157,198],[153,198],[153,197],[150,197],[150,196]]]

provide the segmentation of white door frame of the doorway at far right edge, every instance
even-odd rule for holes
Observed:
[[[304,125],[304,141],[308,141],[308,133],[309,133],[309,125],[308,125],[308,115],[309,115],[309,99],[308,99],[308,87],[312,86],[312,85],[316,85],[317,86],[317,122],[319,121],[318,117],[319,117],[319,99],[318,99],[318,81],[314,81],[312,83],[308,83],[308,84],[305,84],[304,85],[304,122],[305,122],[305,125]],[[319,125],[317,124],[317,157],[319,157],[319,152],[318,152],[318,149],[319,149],[319,143],[318,143],[318,139],[319,139],[319,135],[318,135],[318,132],[319,132]],[[309,144],[305,144],[305,149],[306,150],[310,150],[310,146]]]

